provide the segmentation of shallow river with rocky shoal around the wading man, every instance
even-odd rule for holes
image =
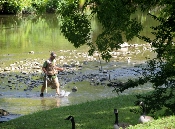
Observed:
[[[144,14],[137,17],[145,27],[142,33],[151,36],[149,27],[157,23]],[[140,74],[135,71],[140,69],[137,66],[144,65],[145,57],[155,56],[149,44],[135,38],[113,52],[113,58],[106,63],[98,53],[88,56],[87,46],[75,49],[61,34],[59,24],[59,18],[53,14],[0,16],[0,108],[12,113],[29,114],[117,96],[112,87],[106,86],[109,76],[121,82],[138,77]],[[92,26],[92,39],[95,40],[101,27],[95,19]],[[58,77],[62,93],[70,93],[67,97],[55,97],[55,90],[50,88],[44,98],[39,97],[43,83],[41,66],[51,51],[58,55],[57,65],[65,69]],[[99,81],[102,78],[105,79],[103,83]],[[78,91],[72,92],[75,86]],[[145,87],[130,89],[123,94],[151,89],[147,85]]]

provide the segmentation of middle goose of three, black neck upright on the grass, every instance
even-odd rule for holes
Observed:
[[[115,114],[115,122],[114,122],[114,129],[119,129],[120,127],[125,129],[126,127],[129,126],[127,123],[118,123],[118,110],[114,109],[114,114]]]

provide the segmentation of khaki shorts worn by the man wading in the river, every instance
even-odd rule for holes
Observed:
[[[46,87],[46,78],[44,78],[44,87]],[[60,87],[58,77],[55,78],[47,78],[47,87],[50,87],[51,89],[56,89]]]

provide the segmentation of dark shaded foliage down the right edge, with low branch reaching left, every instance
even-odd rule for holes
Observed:
[[[165,3],[164,3],[165,4]],[[166,6],[163,10],[169,10],[164,16],[151,15],[155,20],[159,21],[159,25],[152,27],[152,34],[155,39],[150,39],[146,36],[138,36],[146,42],[151,43],[154,47],[157,57],[147,61],[147,66],[143,68],[143,78],[153,84],[155,89],[149,95],[137,95],[138,99],[144,100],[148,107],[148,111],[155,112],[166,107],[172,113],[175,111],[175,49],[174,49],[174,34],[175,28],[172,26],[175,23],[173,6]],[[170,11],[171,10],[171,11]],[[138,81],[138,80],[137,80]],[[138,82],[132,87],[138,86]],[[146,81],[146,82],[147,82]],[[125,87],[119,88],[117,92],[122,92],[131,86],[126,84]]]

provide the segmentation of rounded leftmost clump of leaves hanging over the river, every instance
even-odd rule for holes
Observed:
[[[81,11],[78,11],[78,4],[65,4],[62,8],[62,26],[61,32],[68,41],[74,44],[76,48],[86,44],[90,40],[90,21]]]

